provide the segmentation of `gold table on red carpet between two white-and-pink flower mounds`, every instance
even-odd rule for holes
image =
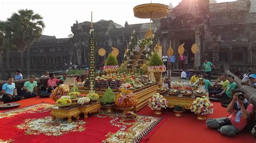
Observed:
[[[174,106],[181,106],[184,109],[190,110],[190,106],[196,98],[191,97],[177,97],[177,96],[166,96],[163,95],[167,101],[167,106],[169,108],[174,108]]]

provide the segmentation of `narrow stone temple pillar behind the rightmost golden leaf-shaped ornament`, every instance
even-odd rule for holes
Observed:
[[[194,67],[196,69],[200,69],[200,65],[201,65],[201,39],[200,39],[200,30],[199,28],[196,28],[196,30],[194,31],[195,34],[195,42],[196,44],[198,44],[199,49],[198,52],[195,54],[195,62],[194,62]]]

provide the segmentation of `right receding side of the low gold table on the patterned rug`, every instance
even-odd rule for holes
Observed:
[[[102,108],[102,105],[100,104],[100,101],[93,103],[91,105],[87,106],[78,106],[81,113],[84,113],[84,118],[88,118],[88,113],[95,113],[98,112],[100,108]]]

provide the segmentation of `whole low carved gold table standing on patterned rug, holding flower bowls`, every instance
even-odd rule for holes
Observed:
[[[84,118],[87,118],[88,113],[95,113],[100,108],[102,108],[102,105],[100,104],[100,101],[97,101],[95,103],[89,103],[88,105],[75,105],[70,106],[66,109],[60,109],[59,107],[54,107],[51,110],[51,117],[52,120],[55,120],[55,118],[68,118],[68,123],[71,123],[72,117],[79,119],[79,115],[81,113],[84,113]]]

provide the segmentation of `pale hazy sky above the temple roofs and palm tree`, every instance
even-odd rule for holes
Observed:
[[[234,0],[217,0],[218,3],[231,1]],[[152,3],[172,3],[173,6],[179,2],[181,0],[152,0]],[[31,9],[43,17],[44,35],[67,38],[76,20],[79,23],[91,21],[91,11],[93,22],[113,20],[123,26],[126,21],[128,24],[148,23],[149,19],[133,15],[134,6],[144,3],[150,3],[150,0],[0,0],[0,20],[5,21],[19,9]]]

